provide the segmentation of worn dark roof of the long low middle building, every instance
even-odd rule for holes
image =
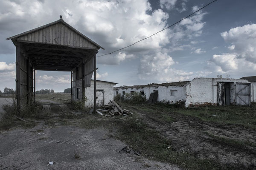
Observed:
[[[127,89],[127,88],[150,88],[150,87],[159,87],[159,86],[180,86],[183,87],[184,85],[186,85],[187,83],[189,83],[190,81],[183,81],[183,82],[166,82],[166,83],[150,83],[148,85],[124,85],[124,86],[120,86],[120,87],[115,87],[114,89]]]

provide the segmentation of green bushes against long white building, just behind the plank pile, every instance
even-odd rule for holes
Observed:
[[[140,94],[136,91],[134,91],[133,94],[126,93],[125,95],[117,94],[114,97],[115,101],[122,101],[127,102],[131,104],[137,104],[137,103],[144,103],[147,101],[145,94]]]

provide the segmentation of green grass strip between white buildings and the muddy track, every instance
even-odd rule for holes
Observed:
[[[242,125],[256,130],[256,106],[209,106],[200,108],[175,108],[172,105],[127,105],[146,113],[178,113],[194,116],[202,121]]]

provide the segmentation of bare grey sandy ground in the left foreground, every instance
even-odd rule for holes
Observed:
[[[127,145],[104,130],[43,126],[0,133],[1,170],[180,170],[120,152]]]

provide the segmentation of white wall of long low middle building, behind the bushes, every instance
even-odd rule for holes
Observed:
[[[171,90],[174,91],[174,96],[171,96]],[[158,86],[158,87],[145,87],[145,88],[119,88],[115,89],[114,95],[116,95],[116,92],[118,91],[118,94],[122,95],[122,92],[125,91],[125,93],[131,94],[131,91],[137,91],[140,93],[140,91],[144,91],[144,94],[146,96],[146,99],[149,99],[149,96],[154,91],[158,91],[158,98],[157,101],[169,101],[169,102],[177,102],[182,101],[186,99],[186,88],[180,87],[180,86]]]

